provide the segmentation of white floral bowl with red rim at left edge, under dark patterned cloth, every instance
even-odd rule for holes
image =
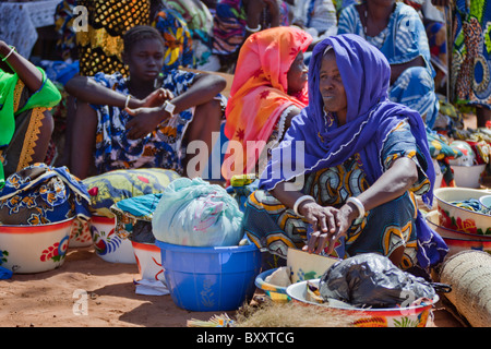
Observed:
[[[73,218],[37,226],[0,226],[0,265],[15,274],[60,267],[67,255]]]

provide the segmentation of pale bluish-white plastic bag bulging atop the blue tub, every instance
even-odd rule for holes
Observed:
[[[155,239],[188,246],[230,246],[243,237],[237,201],[201,178],[180,178],[164,191],[152,219]]]

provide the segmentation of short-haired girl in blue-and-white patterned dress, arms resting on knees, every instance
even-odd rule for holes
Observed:
[[[76,76],[65,86],[82,101],[74,121],[72,172],[87,177],[93,155],[96,173],[140,167],[172,169],[182,176],[203,170],[207,152],[200,153],[201,167],[188,171],[191,157],[185,147],[202,141],[212,148],[212,133],[219,132],[225,109],[219,95],[225,79],[180,70],[163,76],[165,46],[149,26],[127,32],[123,57],[128,79],[98,73]]]

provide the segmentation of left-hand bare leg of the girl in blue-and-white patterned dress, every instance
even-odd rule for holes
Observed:
[[[86,103],[79,103],[71,134],[70,172],[85,179],[94,161],[97,112]]]

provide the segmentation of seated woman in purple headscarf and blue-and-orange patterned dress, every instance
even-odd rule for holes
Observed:
[[[448,249],[418,210],[435,178],[424,123],[388,100],[391,68],[359,36],[318,44],[309,106],[273,149],[246,207],[244,229],[261,249],[349,257],[375,252],[405,270],[426,270]],[[420,273],[418,273],[420,274]]]

